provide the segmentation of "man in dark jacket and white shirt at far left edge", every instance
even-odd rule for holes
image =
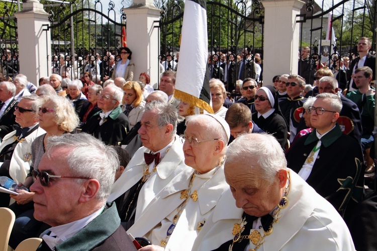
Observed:
[[[16,86],[11,82],[0,83],[0,139],[13,132],[18,128],[15,121],[15,105],[18,100],[14,98],[16,94]]]

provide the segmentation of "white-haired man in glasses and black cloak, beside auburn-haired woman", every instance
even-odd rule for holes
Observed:
[[[107,145],[119,146],[130,128],[128,118],[119,106],[122,98],[121,88],[114,84],[107,85],[98,95],[97,105],[102,110],[87,121],[82,132],[93,135]]]

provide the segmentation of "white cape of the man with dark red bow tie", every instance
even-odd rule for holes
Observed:
[[[114,201],[116,198],[127,192],[143,177],[144,167],[146,166],[144,153],[149,152],[150,150],[145,147],[141,147],[136,151],[121,177],[119,177],[119,179],[113,184],[111,194],[107,199],[108,202]],[[156,194],[158,194],[177,174],[185,169],[191,170],[192,168],[184,164],[183,144],[176,135],[174,143],[171,145],[169,151],[157,165],[157,171],[151,174],[140,190],[137,200],[135,220],[138,219],[141,212]]]

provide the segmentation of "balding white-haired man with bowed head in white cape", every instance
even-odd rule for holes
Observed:
[[[272,135],[237,137],[224,171],[229,187],[193,250],[355,250],[342,218],[287,168]]]

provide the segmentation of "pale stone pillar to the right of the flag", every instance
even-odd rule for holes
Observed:
[[[263,83],[281,74],[297,74],[300,23],[296,15],[304,2],[299,0],[262,0],[264,6]]]

